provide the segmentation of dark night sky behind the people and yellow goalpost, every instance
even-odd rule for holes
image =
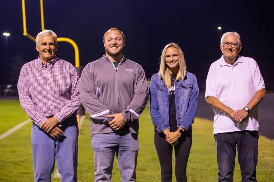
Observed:
[[[147,78],[157,72],[164,46],[178,43],[188,71],[197,76],[204,89],[211,63],[220,58],[219,30],[237,31],[241,36],[239,55],[254,58],[268,89],[274,89],[274,26],[271,1],[88,1],[44,0],[45,28],[58,37],[74,40],[80,52],[80,66],[105,53],[103,35],[116,27],[126,37],[123,54],[142,65]],[[40,1],[25,0],[27,32],[41,31]],[[1,1],[0,84],[16,83],[23,63],[37,59],[35,42],[23,36],[20,0]],[[5,61],[5,36],[8,61]],[[73,65],[74,49],[59,42],[58,58]],[[20,67],[20,68],[18,68]],[[7,71],[8,76],[5,76]]]

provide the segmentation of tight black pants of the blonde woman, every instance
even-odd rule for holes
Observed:
[[[173,146],[166,141],[164,133],[154,134],[154,144],[161,166],[162,182],[170,182],[172,179],[172,150]],[[192,130],[184,132],[174,146],[175,151],[175,176],[177,182],[187,181],[186,165],[192,144]]]

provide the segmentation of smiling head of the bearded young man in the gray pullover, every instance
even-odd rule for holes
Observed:
[[[104,47],[106,56],[116,57],[122,55],[124,49],[124,39],[118,30],[111,30],[105,35]]]

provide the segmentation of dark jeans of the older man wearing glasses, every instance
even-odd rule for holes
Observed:
[[[233,181],[236,148],[242,182],[257,181],[258,131],[237,131],[215,134],[218,163],[218,182]]]

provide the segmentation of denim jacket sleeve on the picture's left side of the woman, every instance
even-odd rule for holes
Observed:
[[[150,117],[152,123],[156,126],[158,132],[162,132],[165,129],[168,129],[168,125],[162,114],[159,111],[158,98],[157,98],[157,90],[156,90],[156,76],[152,76],[149,85],[149,108],[150,108]]]

